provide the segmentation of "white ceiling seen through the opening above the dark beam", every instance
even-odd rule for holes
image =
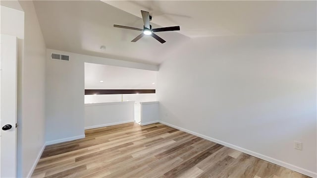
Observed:
[[[156,89],[156,82],[157,71],[85,63],[85,89]]]

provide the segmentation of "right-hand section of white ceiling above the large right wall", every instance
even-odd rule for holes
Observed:
[[[180,25],[188,37],[316,30],[316,1],[286,0],[103,0],[160,26]]]

